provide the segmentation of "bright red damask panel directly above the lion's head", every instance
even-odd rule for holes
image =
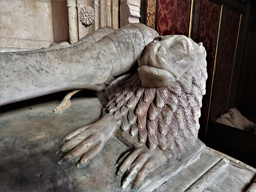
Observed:
[[[190,0],[159,0],[158,33],[188,36],[189,15]]]

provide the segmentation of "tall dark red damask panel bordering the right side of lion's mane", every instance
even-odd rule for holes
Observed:
[[[207,52],[206,61],[208,73],[208,79],[206,81],[206,94],[203,96],[201,117],[199,119],[202,129],[199,131],[198,135],[202,138],[204,138],[205,135],[208,110],[210,106],[210,95],[220,21],[220,9],[220,5],[210,2],[208,0],[202,0],[201,2],[201,11],[198,27],[198,42],[203,42],[203,45]]]

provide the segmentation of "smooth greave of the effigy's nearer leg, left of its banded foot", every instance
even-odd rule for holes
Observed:
[[[104,82],[112,68],[108,56],[95,43],[36,53],[1,54],[0,59],[1,105],[64,90],[97,90],[100,84],[96,83]]]

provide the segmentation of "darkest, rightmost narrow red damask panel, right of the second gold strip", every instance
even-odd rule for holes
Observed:
[[[220,75],[214,110],[214,117],[226,112],[232,69],[236,52],[236,41],[240,23],[240,14],[228,10],[225,26],[225,37],[220,62]]]

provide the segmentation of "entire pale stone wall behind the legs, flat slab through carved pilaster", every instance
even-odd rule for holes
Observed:
[[[102,26],[139,22],[140,0],[1,0],[1,47],[77,42]]]

